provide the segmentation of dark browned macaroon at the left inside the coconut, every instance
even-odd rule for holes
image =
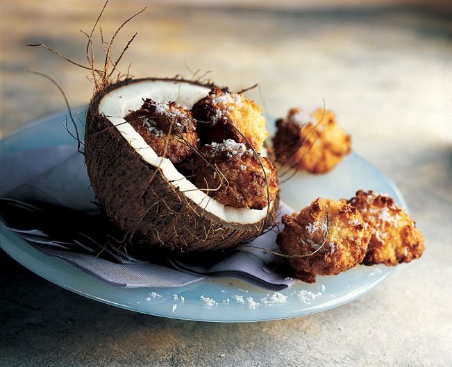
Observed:
[[[167,157],[174,164],[187,160],[198,146],[196,121],[192,113],[176,102],[155,102],[146,99],[140,110],[124,117],[144,141],[160,157]],[[185,140],[185,142],[184,142]]]

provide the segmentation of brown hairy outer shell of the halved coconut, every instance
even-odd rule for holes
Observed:
[[[92,188],[108,219],[124,234],[119,242],[133,248],[189,253],[224,250],[242,244],[274,222],[277,203],[258,223],[228,223],[203,210],[145,162],[103,114],[99,104],[113,89],[141,81],[124,80],[94,95],[87,110],[85,162]],[[206,85],[206,87],[212,87]],[[117,239],[118,241],[118,239]]]

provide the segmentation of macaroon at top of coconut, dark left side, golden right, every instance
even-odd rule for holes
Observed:
[[[250,148],[246,142],[248,139],[260,152],[268,136],[262,109],[242,94],[212,88],[208,96],[193,105],[192,114],[198,121],[199,135],[204,144],[233,139]]]

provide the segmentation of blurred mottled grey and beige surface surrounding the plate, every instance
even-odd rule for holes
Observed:
[[[399,186],[426,252],[348,305],[253,324],[124,311],[56,287],[1,253],[0,366],[451,366],[450,7],[171,3],[151,4],[118,39],[139,33],[124,60],[133,60],[135,76],[190,77],[188,66],[211,70],[233,89],[260,83],[250,95],[276,116],[324,99],[355,151]],[[104,30],[144,4],[112,2]],[[64,108],[56,89],[25,69],[54,73],[75,105],[90,99],[85,71],[23,45],[44,42],[83,62],[78,29],[90,29],[98,8],[97,1],[1,3],[3,136]]]

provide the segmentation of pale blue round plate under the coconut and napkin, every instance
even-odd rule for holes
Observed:
[[[83,136],[84,109],[76,112]],[[51,114],[18,130],[1,141],[1,153],[75,144],[63,128],[66,116],[64,112]],[[300,210],[317,196],[351,198],[358,189],[385,192],[406,207],[391,180],[356,153],[326,175],[297,174],[281,185],[281,198]],[[324,311],[362,296],[392,272],[385,266],[356,266],[340,275],[317,277],[315,284],[296,282],[280,293],[232,279],[203,280],[172,289],[128,289],[112,287],[60,259],[44,255],[3,227],[1,248],[42,278],[82,296],[144,314],[197,321],[264,321]]]

